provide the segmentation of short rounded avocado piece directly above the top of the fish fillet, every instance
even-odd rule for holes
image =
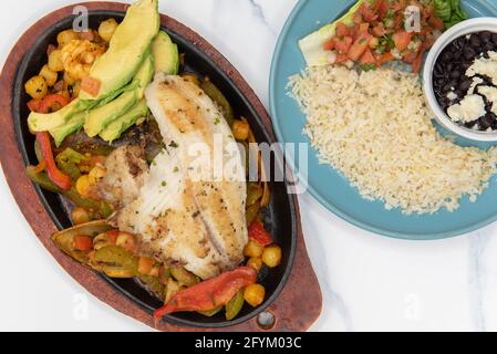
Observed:
[[[154,54],[155,71],[162,71],[168,75],[177,75],[179,71],[178,45],[173,43],[170,37],[159,31],[154,42],[152,42],[152,53]]]

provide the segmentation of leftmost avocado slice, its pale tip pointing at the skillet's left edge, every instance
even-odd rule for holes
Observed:
[[[53,131],[65,125],[75,114],[89,110],[94,104],[94,102],[81,101],[76,98],[65,107],[62,107],[53,113],[44,114],[31,112],[28,117],[28,126],[30,131],[34,133]]]

